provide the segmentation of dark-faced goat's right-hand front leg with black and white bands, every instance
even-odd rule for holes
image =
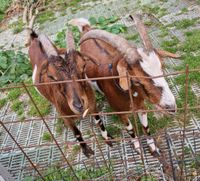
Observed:
[[[112,145],[111,139],[113,139],[113,137],[107,132],[103,124],[103,120],[100,118],[99,115],[96,115],[94,116],[94,121],[95,121],[95,124],[100,128],[101,135],[105,139],[106,144],[112,147],[113,145]]]

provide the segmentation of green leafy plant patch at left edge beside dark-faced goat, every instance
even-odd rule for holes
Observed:
[[[27,55],[21,51],[0,51],[0,86],[27,80],[32,74]]]

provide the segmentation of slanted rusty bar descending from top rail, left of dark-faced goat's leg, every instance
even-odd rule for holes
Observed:
[[[61,152],[61,154],[62,154],[62,156],[63,156],[65,162],[68,164],[68,166],[69,166],[69,168],[71,169],[72,173],[74,174],[76,180],[79,180],[79,178],[77,177],[77,175],[76,175],[76,173],[75,173],[73,167],[71,166],[71,164],[70,164],[70,162],[68,161],[68,159],[65,157],[64,152],[62,151],[60,145],[58,144],[56,138],[54,137],[53,133],[51,132],[51,129],[49,128],[47,122],[46,122],[45,119],[43,118],[43,116],[42,116],[40,110],[38,109],[38,107],[37,107],[35,101],[33,100],[33,98],[32,98],[32,96],[31,96],[30,92],[28,91],[28,89],[27,89],[27,87],[26,87],[26,85],[25,85],[24,83],[23,83],[23,86],[24,86],[24,89],[25,89],[25,91],[27,92],[27,94],[28,94],[28,96],[29,96],[31,102],[33,103],[34,107],[36,108],[38,114],[40,115],[40,117],[41,117],[43,123],[45,124],[47,130],[49,131],[49,133],[50,133],[50,135],[51,135],[51,138],[52,138],[53,141],[56,143],[56,146],[58,147],[59,151]]]

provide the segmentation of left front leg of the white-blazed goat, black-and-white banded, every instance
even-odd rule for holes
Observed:
[[[134,144],[135,150],[140,154],[141,153],[140,142],[138,140],[138,137],[135,135],[135,130],[133,128],[131,121],[128,118],[128,115],[120,115],[120,119],[126,126],[126,130],[128,134],[133,138],[133,144]]]

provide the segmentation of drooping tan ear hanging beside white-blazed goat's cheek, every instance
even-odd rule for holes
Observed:
[[[119,76],[126,76],[127,63],[125,61],[119,61],[117,64],[117,72]],[[128,90],[128,80],[127,77],[119,78],[119,85],[123,90]]]

